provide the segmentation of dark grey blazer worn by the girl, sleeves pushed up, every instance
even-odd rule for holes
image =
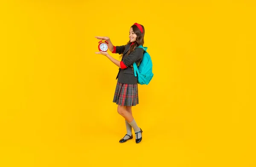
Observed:
[[[138,78],[134,76],[134,69],[131,67],[131,65],[134,62],[136,62],[137,65],[141,62],[144,50],[142,48],[136,48],[134,52],[131,52],[129,55],[127,55],[130,46],[131,44],[116,46],[115,53],[118,53],[119,55],[123,54],[121,61],[123,61],[125,66],[128,67],[126,69],[119,68],[116,79],[118,78],[117,81],[119,81],[120,83],[136,84]]]

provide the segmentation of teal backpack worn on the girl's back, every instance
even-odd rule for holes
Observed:
[[[150,55],[146,51],[148,48],[143,47],[141,45],[138,46],[138,48],[143,48],[145,52],[143,53],[143,58],[139,64],[139,66],[137,66],[137,64],[135,62],[133,63],[134,75],[135,75],[135,77],[138,76],[138,83],[140,85],[144,85],[144,84],[147,85],[154,76],[154,74],[152,72],[153,64],[152,64]]]

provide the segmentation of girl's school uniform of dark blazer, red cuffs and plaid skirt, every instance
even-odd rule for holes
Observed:
[[[136,48],[134,52],[127,55],[130,46],[134,43],[130,43],[123,46],[114,46],[113,52],[116,54],[123,54],[121,60],[121,68],[119,68],[116,76],[116,90],[114,93],[113,102],[121,106],[135,106],[139,104],[138,96],[138,78],[134,76],[134,69],[131,67],[134,62],[137,66],[143,58],[144,50],[142,48]]]

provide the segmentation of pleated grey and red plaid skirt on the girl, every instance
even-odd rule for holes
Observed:
[[[139,104],[138,84],[117,82],[113,102],[120,106],[136,106],[136,104]]]

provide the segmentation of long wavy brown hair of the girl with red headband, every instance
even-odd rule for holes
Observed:
[[[145,34],[145,29],[144,26],[140,24],[140,26],[142,26],[143,32],[140,31],[140,29],[136,26],[136,25],[132,25],[132,29],[133,32],[137,35],[136,37],[136,41],[134,42],[134,44],[130,47],[130,49],[128,50],[126,55],[129,55],[130,53],[134,52],[135,48],[143,45],[144,44],[144,34]],[[128,41],[127,44],[131,44],[130,40]],[[122,55],[120,56],[122,57]]]

